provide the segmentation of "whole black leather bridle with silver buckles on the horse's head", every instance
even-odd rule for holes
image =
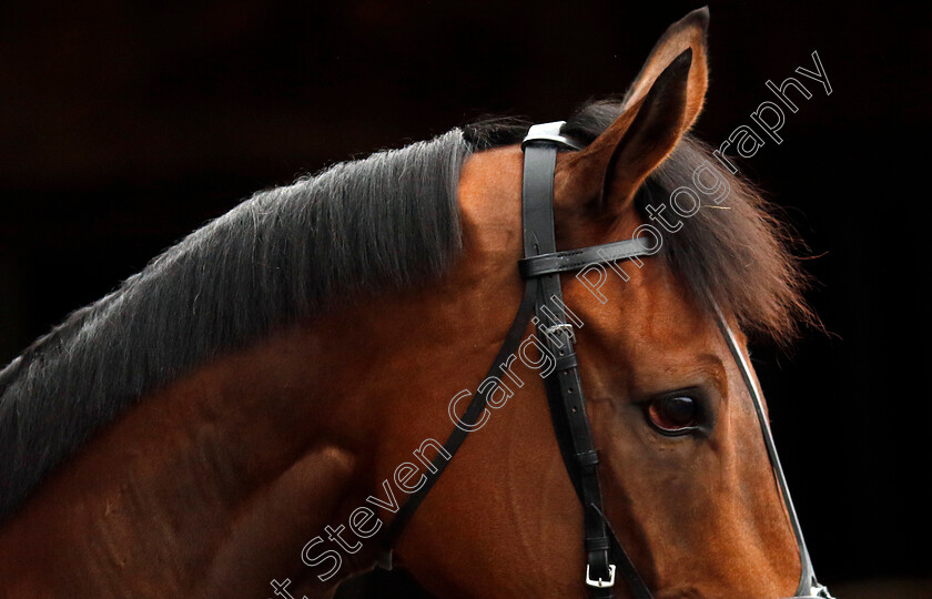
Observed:
[[[615,597],[616,570],[620,570],[636,599],[651,599],[650,589],[638,573],[605,517],[598,476],[598,455],[586,410],[586,399],[582,395],[578,369],[579,362],[574,349],[576,338],[573,333],[573,324],[567,321],[559,275],[565,272],[580,271],[592,264],[639,260],[641,256],[656,253],[659,244],[652,246],[644,238],[636,237],[581,250],[557,251],[554,231],[554,174],[557,152],[560,149],[581,149],[580,144],[560,133],[563,124],[563,121],[557,121],[534,125],[521,143],[525,153],[521,189],[525,257],[519,261],[518,270],[526,281],[525,293],[515,319],[505,336],[505,342],[502,344],[498,355],[495,356],[486,378],[499,373],[502,365],[518,351],[528,323],[534,323],[539,343],[553,356],[556,356],[555,368],[545,378],[545,386],[560,454],[576,489],[576,495],[582,505],[586,585],[591,590],[591,597],[598,599],[612,598]],[[741,376],[754,403],[770,463],[790,515],[799,547],[802,573],[799,588],[793,597],[800,599],[829,598],[831,596],[828,590],[816,580],[809,551],[806,548],[806,540],[802,537],[799,519],[770,433],[770,425],[763,410],[761,395],[758,393],[754,379],[751,376],[750,366],[744,359],[738,341],[721,311],[716,307],[716,312],[718,326],[741,370]],[[388,565],[391,565],[392,547],[394,547],[395,540],[405,524],[412,518],[417,507],[439,479],[444,468],[453,459],[453,455],[463,445],[468,435],[468,426],[474,425],[483,415],[488,398],[494,390],[494,386],[486,386],[475,394],[469,406],[459,418],[465,426],[454,428],[444,444],[446,455],[442,453],[433,460],[433,468],[426,474],[425,484],[412,494],[398,509],[384,537],[388,551],[388,558],[385,561]]]

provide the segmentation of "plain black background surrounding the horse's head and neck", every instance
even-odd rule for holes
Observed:
[[[624,92],[699,6],[652,4],[4,4],[0,363],[259,189],[486,113],[556,120]],[[830,585],[932,576],[923,4],[711,4],[699,136],[748,124],[764,82],[812,69],[813,50],[833,88],[802,78],[813,98],[783,144],[741,163],[818,256],[829,334],[754,357]]]

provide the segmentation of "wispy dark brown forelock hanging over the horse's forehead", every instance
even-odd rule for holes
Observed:
[[[563,131],[591,143],[620,114],[621,103],[585,104]],[[696,173],[710,169],[729,192],[710,197],[696,189]],[[683,226],[665,233],[661,255],[697,303],[713,313],[712,302],[733,314],[741,328],[759,339],[788,344],[801,325],[818,324],[803,300],[809,278],[798,252],[804,245],[753,184],[729,171],[712,149],[687,134],[650,173],[635,196],[635,207],[649,222],[647,205],[669,203],[687,186],[701,209],[683,219]]]

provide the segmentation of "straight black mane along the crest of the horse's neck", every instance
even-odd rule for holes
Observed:
[[[0,372],[0,518],[139,397],[336,297],[443,273],[459,130],[255,194]]]

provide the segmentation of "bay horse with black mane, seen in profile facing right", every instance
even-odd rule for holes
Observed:
[[[567,476],[539,339],[464,415],[529,284],[528,123],[492,120],[255,194],[3,369],[0,595],[330,597],[391,560],[439,597],[827,597],[743,348],[812,318],[804,275],[689,134],[707,23],[672,24],[622,100],[530,138],[553,149],[557,246],[661,233],[548,275],[600,509]],[[609,585],[624,564],[588,572],[609,547],[591,521],[630,585]]]

